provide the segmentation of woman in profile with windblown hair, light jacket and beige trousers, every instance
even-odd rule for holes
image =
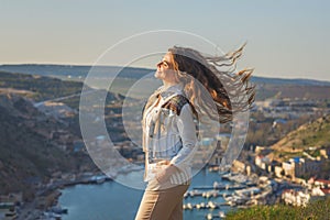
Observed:
[[[234,67],[243,46],[232,54],[208,57],[186,47],[173,47],[157,64],[163,80],[143,110],[144,180],[147,187],[135,220],[183,219],[183,198],[191,179],[191,158],[198,143],[198,121],[208,117],[229,122],[254,99],[249,77]]]

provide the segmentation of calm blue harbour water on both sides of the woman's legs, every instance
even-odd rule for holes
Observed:
[[[125,183],[139,182],[143,172],[132,172],[127,175],[120,175],[118,178]],[[189,190],[196,186],[212,186],[213,182],[230,184],[221,180],[219,174],[210,173],[206,169],[200,170],[194,178]],[[77,185],[62,190],[59,204],[68,209],[68,215],[63,215],[64,220],[130,220],[134,219],[138,211],[143,190],[132,189],[117,182],[107,182],[100,185]],[[184,204],[193,205],[209,200],[223,202],[221,196],[217,198],[194,197],[186,198]],[[207,213],[217,215],[219,211],[227,212],[231,207],[221,207],[220,209],[194,209],[185,210],[185,220],[206,219]]]

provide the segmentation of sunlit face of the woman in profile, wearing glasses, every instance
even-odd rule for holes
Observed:
[[[172,61],[172,54],[169,52],[164,55],[162,62],[157,64],[157,72],[155,73],[156,78],[169,82],[176,81]]]

